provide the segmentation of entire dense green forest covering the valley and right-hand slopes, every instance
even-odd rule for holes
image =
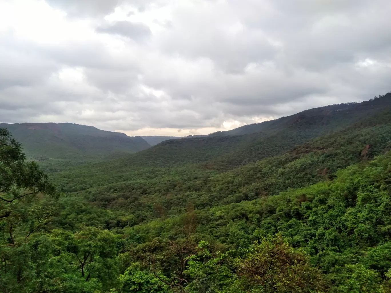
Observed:
[[[391,93],[61,172],[22,147],[0,130],[0,292],[391,292]]]

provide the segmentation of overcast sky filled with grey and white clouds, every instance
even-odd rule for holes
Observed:
[[[0,0],[0,122],[229,130],[391,91],[389,0]]]

